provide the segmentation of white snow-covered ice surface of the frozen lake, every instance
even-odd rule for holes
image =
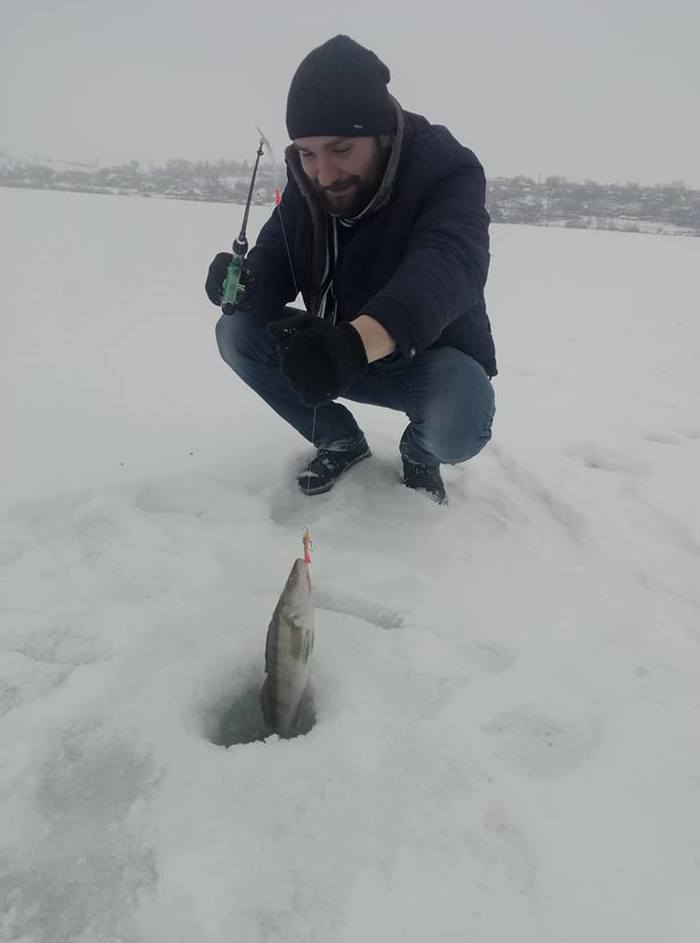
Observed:
[[[368,407],[295,490],[202,291],[240,208],[0,216],[0,939],[696,943],[700,240],[493,227],[438,508]],[[255,741],[307,524],[315,724]]]

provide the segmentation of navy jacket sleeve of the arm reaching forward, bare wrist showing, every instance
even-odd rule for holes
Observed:
[[[486,180],[477,164],[427,196],[408,249],[386,285],[363,307],[413,357],[482,299],[489,267]]]

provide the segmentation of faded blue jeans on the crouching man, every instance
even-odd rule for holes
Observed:
[[[298,314],[292,308],[222,315],[216,340],[226,363],[276,413],[319,449],[347,449],[362,435],[338,402],[306,406],[280,373],[267,321]],[[343,399],[396,409],[409,424],[399,446],[403,458],[422,465],[465,462],[491,438],[495,412],[491,381],[481,364],[454,347],[426,350],[411,360],[392,355],[369,365]]]

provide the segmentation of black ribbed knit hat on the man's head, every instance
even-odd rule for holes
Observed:
[[[370,49],[334,36],[313,49],[294,73],[287,131],[303,137],[389,134],[396,125],[387,90],[391,73]]]

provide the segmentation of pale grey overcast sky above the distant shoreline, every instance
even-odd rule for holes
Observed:
[[[0,0],[0,149],[103,163],[281,153],[336,33],[487,175],[700,188],[700,0]]]

